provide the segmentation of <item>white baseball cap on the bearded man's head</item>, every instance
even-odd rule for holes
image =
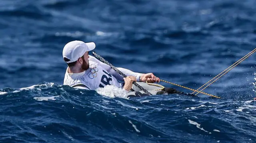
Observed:
[[[92,51],[95,47],[94,42],[71,41],[64,46],[62,56],[66,63],[72,63],[82,57],[85,52]]]

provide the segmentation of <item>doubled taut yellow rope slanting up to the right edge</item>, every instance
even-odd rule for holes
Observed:
[[[250,53],[248,53],[247,55],[245,55],[244,57],[242,57],[240,60],[238,60],[236,63],[234,63],[233,65],[231,65],[230,67],[232,67],[231,69],[233,69],[234,67],[236,67],[238,64],[240,64],[242,61],[244,61],[246,58],[248,58],[250,55],[252,55],[254,52],[256,52],[256,49],[254,49],[254,50],[252,50]],[[244,58],[244,59],[243,59]],[[227,69],[229,69],[230,67],[228,67]],[[226,71],[227,69],[225,69],[224,71]],[[229,72],[231,69],[229,69],[228,71],[226,71],[224,74],[226,74],[227,72]],[[223,72],[224,72],[223,71]],[[220,74],[222,74],[223,72],[221,72]],[[218,74],[217,76],[219,76],[220,74]],[[222,74],[221,76],[223,76],[224,74]],[[216,78],[217,76],[215,76],[214,78]],[[221,76],[219,76],[216,80],[218,80]],[[212,81],[214,78],[212,78],[210,81]],[[215,82],[216,80],[214,80],[213,82]],[[206,84],[207,83],[209,83],[210,81],[208,81],[208,82],[206,82]],[[211,82],[210,84],[208,84],[205,88],[207,88],[208,86],[210,86],[213,82]],[[204,85],[206,85],[206,84],[204,84]],[[203,86],[204,86],[203,85]],[[203,86],[201,86],[200,88],[202,88]],[[203,88],[202,90],[200,90],[199,92],[198,92],[198,90],[200,89],[200,88],[198,88],[196,91],[194,91],[194,92],[197,92],[195,95],[197,95],[198,93],[200,93],[202,90],[204,90],[205,88]],[[194,92],[192,93],[192,94],[194,94]]]

